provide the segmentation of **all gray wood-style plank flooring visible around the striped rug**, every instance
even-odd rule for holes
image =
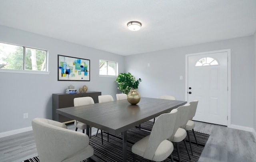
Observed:
[[[69,124],[68,129],[75,130],[75,127]],[[256,162],[256,140],[252,132],[203,122],[196,122],[194,130],[210,133],[199,162]],[[0,138],[0,162],[21,162],[34,156],[37,152],[32,131]]]

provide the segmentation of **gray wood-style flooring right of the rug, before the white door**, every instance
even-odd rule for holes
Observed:
[[[256,162],[252,132],[196,122],[194,130],[210,133],[198,162]]]

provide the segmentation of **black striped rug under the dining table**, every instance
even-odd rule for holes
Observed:
[[[145,130],[151,130],[153,126],[153,122],[146,122],[141,124],[141,128]],[[132,145],[136,143],[141,138],[148,136],[150,132],[139,130],[138,128],[131,128],[127,131],[127,161],[133,161],[133,153],[131,151]],[[200,158],[200,155],[204,149],[204,146],[209,138],[209,134],[204,134],[200,132],[195,132],[196,138],[198,141],[199,146],[196,145],[193,132],[190,131],[190,138],[192,141],[192,148],[193,148],[193,156],[190,152],[190,147],[188,143],[188,138],[186,137],[188,151],[190,152],[191,160],[188,158],[188,154],[184,145],[184,142],[179,143],[180,149],[180,156],[182,162],[197,162]],[[95,135],[92,136],[90,139],[90,145],[94,148],[94,156],[102,160],[103,162],[122,162],[122,135],[118,134],[116,136],[111,135],[109,136],[109,141],[107,142],[107,134],[103,132],[103,139],[104,144],[101,143],[101,135],[98,134],[96,137]],[[176,145],[174,144],[174,151],[172,152],[172,157],[174,161],[178,162],[178,155],[176,150]],[[23,162],[39,162],[38,157],[34,157]],[[86,162],[83,160],[82,162]],[[148,162],[148,160],[137,156],[136,162]],[[171,162],[170,158],[164,160],[164,162]]]

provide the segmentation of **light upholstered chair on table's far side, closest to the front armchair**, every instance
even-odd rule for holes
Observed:
[[[77,97],[74,98],[74,106],[82,106],[82,105],[89,105],[89,104],[94,104],[94,100],[91,97]],[[82,129],[83,133],[84,130],[86,129],[86,124],[79,122],[75,120],[74,125],[77,129]],[[92,128],[90,128],[90,137],[92,136]]]

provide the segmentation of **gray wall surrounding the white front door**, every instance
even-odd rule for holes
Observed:
[[[185,100],[185,55],[222,49],[231,49],[231,124],[253,128],[253,36],[126,56],[125,71],[142,78],[141,96],[166,94]]]

